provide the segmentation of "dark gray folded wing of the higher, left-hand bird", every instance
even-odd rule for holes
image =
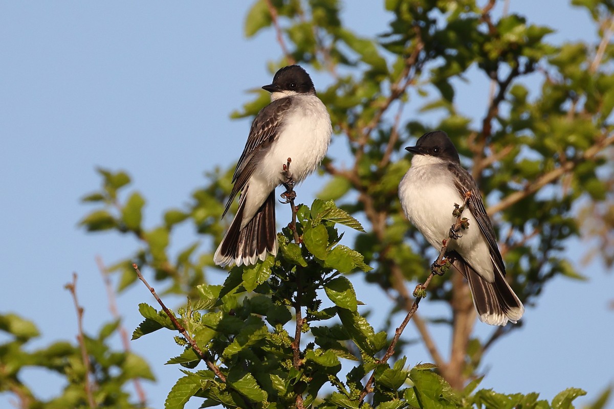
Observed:
[[[239,162],[236,164],[235,174],[232,177],[232,182],[235,185],[230,192],[223,215],[228,212],[233,199],[239,191],[243,190],[254,173],[262,153],[266,151],[271,142],[277,139],[279,129],[283,124],[284,113],[290,109],[290,105],[292,105],[291,98],[280,98],[266,105],[256,115],[254,122],[252,122],[252,128],[249,130],[243,153],[241,153]]]

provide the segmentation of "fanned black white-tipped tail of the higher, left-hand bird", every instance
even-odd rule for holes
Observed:
[[[243,229],[243,210],[245,208],[245,194],[243,192],[239,201],[239,210],[230,224],[228,231],[222,239],[213,261],[218,266],[251,266],[258,259],[264,260],[266,254],[277,254],[277,232],[275,229],[275,191],[266,198]]]

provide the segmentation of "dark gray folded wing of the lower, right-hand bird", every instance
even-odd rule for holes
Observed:
[[[503,264],[503,259],[499,252],[497,236],[492,227],[491,219],[488,217],[488,213],[486,213],[486,208],[484,208],[482,194],[480,193],[480,189],[478,189],[478,185],[476,185],[472,175],[461,165],[449,163],[448,170],[454,174],[454,184],[462,197],[465,197],[465,193],[468,191],[471,192],[471,197],[469,197],[467,201],[469,210],[471,210],[476,223],[478,223],[478,227],[480,227],[482,235],[486,239],[486,243],[488,243],[493,262],[495,262],[500,272],[505,275],[505,264]]]

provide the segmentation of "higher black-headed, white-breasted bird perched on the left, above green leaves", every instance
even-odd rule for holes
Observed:
[[[275,188],[305,180],[330,145],[330,115],[303,67],[279,69],[273,83],[262,88],[271,93],[271,103],[252,122],[232,178],[222,218],[239,191],[241,195],[235,218],[214,254],[214,262],[222,267],[251,266],[267,254],[277,254]],[[289,158],[292,180],[283,167]]]

